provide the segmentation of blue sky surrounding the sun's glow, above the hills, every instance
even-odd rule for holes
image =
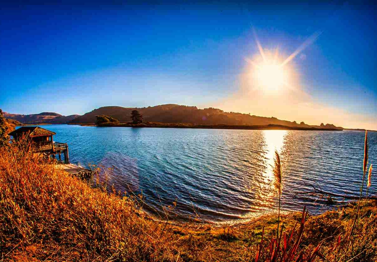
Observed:
[[[70,115],[108,105],[176,103],[377,129],[374,7],[9,6],[0,19],[0,107],[6,112]],[[240,94],[245,58],[259,53],[253,29],[263,48],[279,47],[286,56],[322,32],[290,62],[305,93],[281,105],[292,112],[253,107],[273,98]],[[323,110],[295,115],[292,104],[300,99]]]

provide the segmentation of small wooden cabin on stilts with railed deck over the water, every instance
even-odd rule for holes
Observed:
[[[54,142],[53,136],[56,135],[55,132],[39,126],[23,126],[9,133],[9,135],[13,136],[14,141],[24,136],[30,138],[33,142],[32,150],[38,155],[52,156],[54,158],[58,155],[61,161],[61,154],[63,153],[64,162],[69,164],[68,145]]]

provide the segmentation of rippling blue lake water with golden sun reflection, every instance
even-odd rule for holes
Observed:
[[[171,219],[176,220],[226,221],[276,211],[275,149],[284,168],[283,210],[333,209],[325,199],[296,192],[315,185],[357,195],[362,179],[360,131],[43,127],[57,133],[54,141],[69,144],[70,162],[114,167],[107,170],[109,184],[117,191],[142,192],[146,211],[156,214],[175,202]],[[369,164],[376,164],[377,132],[368,138]],[[371,194],[376,194],[376,176],[373,172]]]

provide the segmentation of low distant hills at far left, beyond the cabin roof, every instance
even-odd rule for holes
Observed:
[[[79,115],[60,115],[54,112],[42,112],[40,114],[20,115],[4,112],[7,119],[17,120],[23,124],[67,124]]]

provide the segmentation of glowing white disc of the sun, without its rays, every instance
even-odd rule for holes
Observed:
[[[264,90],[277,91],[287,82],[287,72],[280,65],[262,64],[255,72],[258,85]]]

